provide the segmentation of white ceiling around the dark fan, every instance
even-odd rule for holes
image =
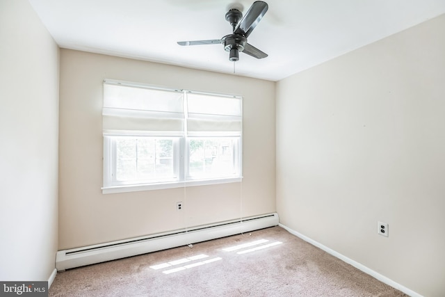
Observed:
[[[60,47],[233,73],[223,45],[177,41],[232,33],[225,13],[253,0],[29,0]],[[237,75],[278,81],[445,13],[445,0],[266,0]]]

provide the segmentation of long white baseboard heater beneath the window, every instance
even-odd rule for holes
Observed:
[[[69,268],[142,255],[147,252],[185,246],[189,243],[198,243],[273,227],[278,225],[278,223],[278,214],[273,213],[237,220],[227,220],[216,224],[201,225],[133,239],[112,241],[94,246],[85,246],[83,248],[60,250],[56,254],[56,268],[57,271],[65,271]]]

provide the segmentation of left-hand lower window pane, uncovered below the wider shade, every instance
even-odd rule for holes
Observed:
[[[119,137],[115,139],[115,181],[156,182],[176,178],[173,138]]]

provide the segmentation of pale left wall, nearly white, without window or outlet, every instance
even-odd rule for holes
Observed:
[[[0,280],[48,280],[57,251],[58,47],[0,1]]]

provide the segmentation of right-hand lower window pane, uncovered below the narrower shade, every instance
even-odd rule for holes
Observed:
[[[189,143],[189,177],[211,179],[238,175],[237,150],[236,137],[192,138]]]

